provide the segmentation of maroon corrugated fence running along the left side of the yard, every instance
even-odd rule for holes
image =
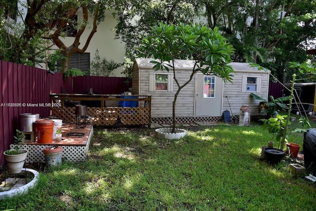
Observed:
[[[11,62],[0,61],[0,166],[4,164],[3,151],[13,141],[20,113],[50,115],[49,94],[60,93],[64,86],[61,73]]]

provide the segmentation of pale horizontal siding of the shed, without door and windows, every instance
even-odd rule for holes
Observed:
[[[172,102],[174,94],[178,90],[176,83],[173,81],[173,92],[150,92],[150,76],[151,72],[165,73],[166,70],[155,71],[150,63],[151,59],[136,59],[133,66],[133,93],[137,90],[141,95],[152,95],[152,117],[172,117]],[[183,61],[184,62],[184,61]],[[177,67],[176,77],[179,83],[184,84],[192,72],[193,63],[184,62],[185,64]],[[242,92],[242,76],[261,77],[261,90],[257,95],[267,98],[269,91],[269,73],[264,70],[251,68],[246,63],[231,63],[233,69],[233,83],[226,82],[223,85],[222,96],[222,112],[229,110],[233,115],[239,114],[239,109],[242,105],[249,105],[252,115],[259,115],[259,101],[254,100],[251,92]],[[138,78],[138,79],[137,79]],[[137,85],[135,82],[138,80]],[[195,83],[196,75],[192,81],[185,86],[179,93],[176,103],[176,116],[178,117],[193,117],[195,110]],[[227,96],[227,97],[226,97]]]

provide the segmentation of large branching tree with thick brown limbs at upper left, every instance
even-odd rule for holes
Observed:
[[[92,36],[96,32],[97,24],[105,18],[105,10],[114,5],[112,0],[33,0],[33,1],[4,1],[0,3],[1,20],[6,20],[7,15],[21,22],[11,23],[2,21],[0,30],[0,59],[16,63],[35,65],[43,62],[43,52],[55,44],[67,58],[65,70],[69,67],[69,60],[74,52],[83,53]],[[82,18],[74,22],[74,16],[82,11]],[[90,21],[89,19],[92,19]],[[80,36],[86,30],[90,21],[93,27],[90,34],[80,45]],[[63,29],[68,24],[73,24],[77,35],[72,45],[66,46],[61,37],[65,36]],[[82,42],[82,40],[80,40]],[[62,70],[64,71],[64,70]]]

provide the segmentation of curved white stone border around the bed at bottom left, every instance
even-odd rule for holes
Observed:
[[[17,196],[20,194],[26,194],[29,191],[29,189],[33,188],[37,184],[37,181],[40,177],[40,174],[37,171],[28,168],[23,168],[22,171],[33,173],[34,178],[32,179],[32,181],[16,189],[0,192],[0,200],[5,198],[11,198],[13,196]]]

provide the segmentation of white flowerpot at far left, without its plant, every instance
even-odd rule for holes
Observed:
[[[11,174],[18,174],[22,171],[26,156],[28,155],[28,150],[23,149],[23,151],[25,151],[23,154],[18,155],[7,155],[3,153],[6,165]]]

